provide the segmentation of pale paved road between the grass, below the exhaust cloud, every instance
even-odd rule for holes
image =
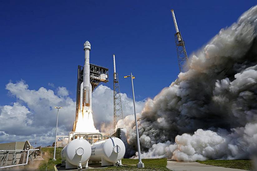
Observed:
[[[167,168],[175,171],[246,171],[242,169],[223,168],[198,162],[167,161]]]

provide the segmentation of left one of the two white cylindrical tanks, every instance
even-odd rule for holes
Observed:
[[[67,146],[61,150],[61,158],[70,164],[78,166],[81,161],[81,164],[85,164],[91,155],[91,146],[88,141],[83,138],[77,138],[70,141]]]

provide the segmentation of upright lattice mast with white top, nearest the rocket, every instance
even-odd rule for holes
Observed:
[[[118,73],[116,73],[115,67],[115,55],[113,55],[113,103],[114,103],[114,130],[116,129],[117,122],[123,119],[120,90],[119,90],[119,79]]]

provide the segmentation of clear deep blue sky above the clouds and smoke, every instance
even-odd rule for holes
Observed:
[[[188,54],[231,25],[256,1],[0,1],[0,105],[14,99],[9,80],[29,89],[64,86],[75,99],[77,65],[84,63],[83,43],[91,43],[90,63],[109,68],[113,61],[120,90],[131,97],[122,76],[133,72],[136,100],[153,98],[179,73],[174,9]]]

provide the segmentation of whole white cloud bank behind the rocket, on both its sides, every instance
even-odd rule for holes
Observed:
[[[9,95],[16,99],[12,105],[0,106],[0,141],[26,141],[37,142],[39,145],[51,145],[54,142],[56,114],[55,106],[63,107],[59,111],[58,135],[68,135],[75,121],[76,103],[68,95],[66,87],[58,87],[54,90],[40,87],[38,90],[30,90],[29,85],[21,80],[16,83],[12,81],[6,85]],[[93,92],[94,120],[97,129],[102,123],[108,123],[113,118],[113,90],[100,85]],[[132,99],[122,94],[124,103],[124,114],[133,111]],[[104,106],[102,106],[104,104]],[[143,102],[138,102],[143,106]],[[129,109],[131,107],[131,109]],[[142,108],[138,107],[138,111]],[[102,127],[102,129],[106,129]]]

